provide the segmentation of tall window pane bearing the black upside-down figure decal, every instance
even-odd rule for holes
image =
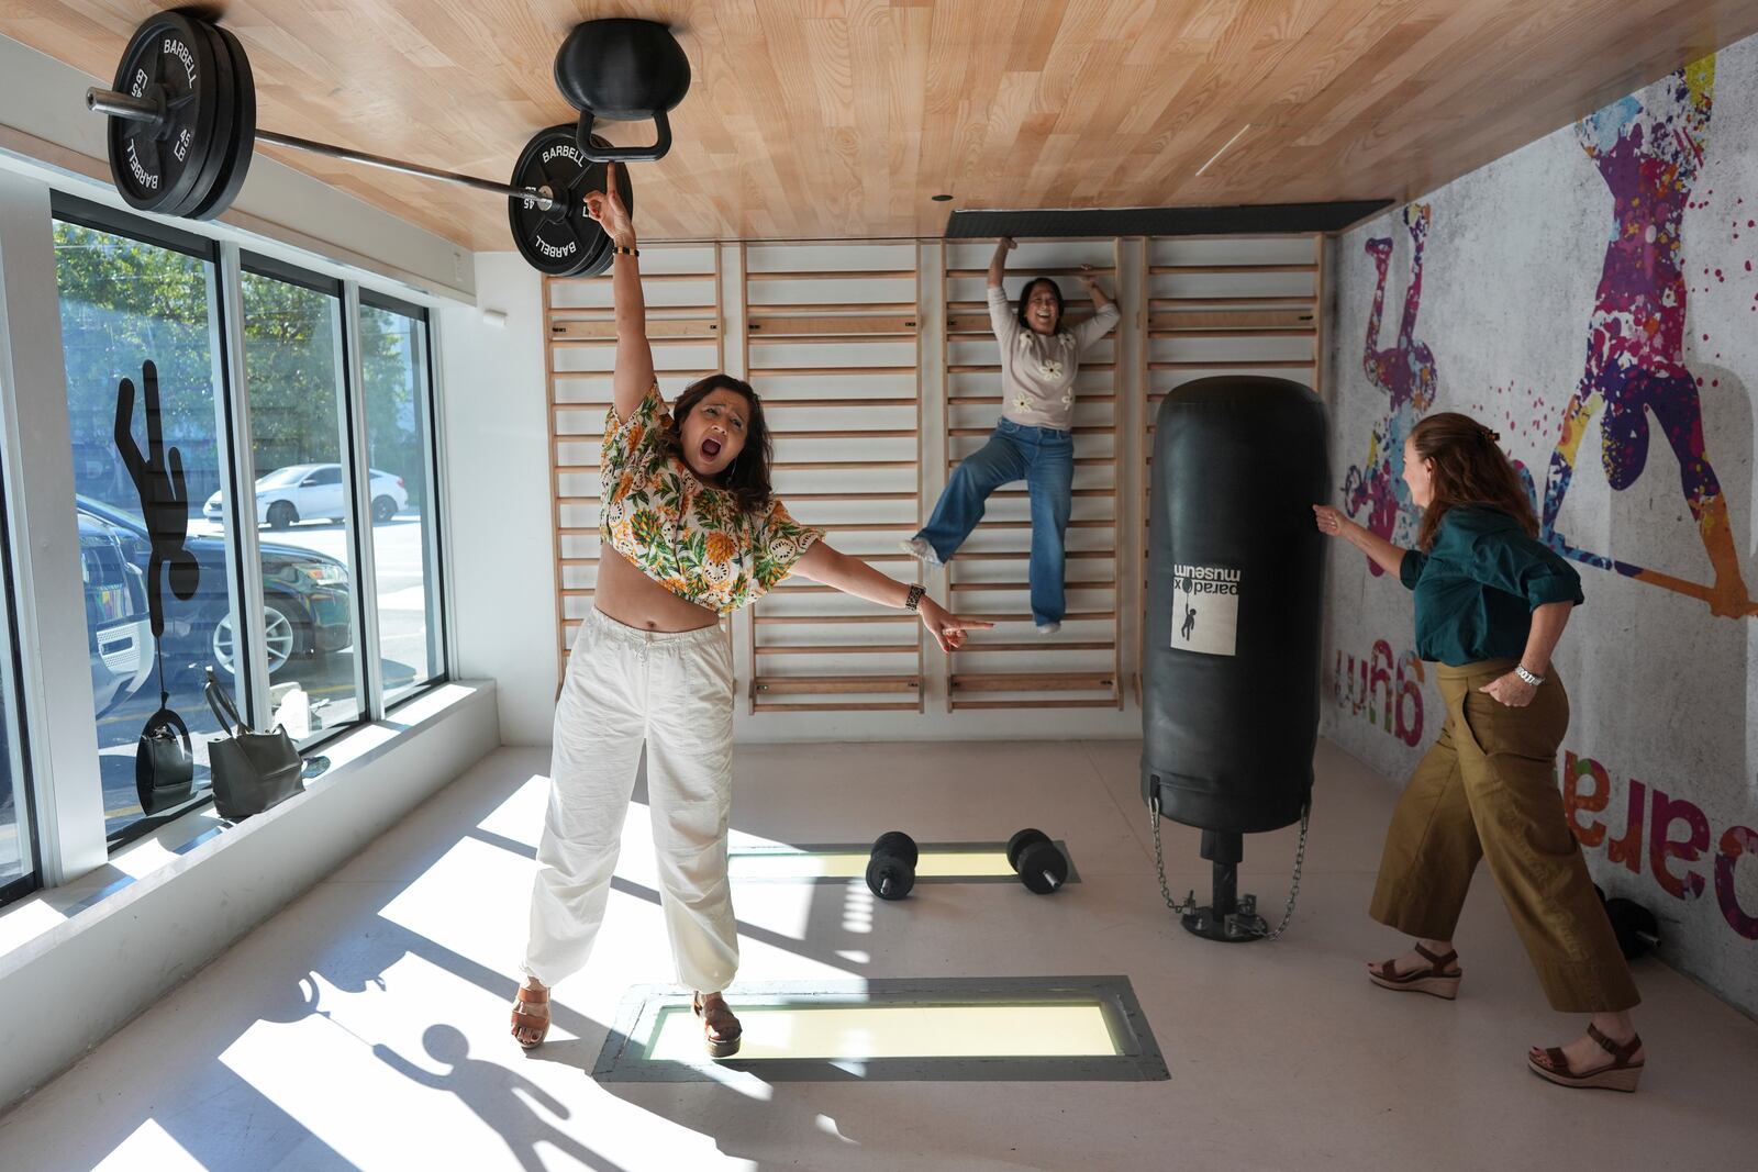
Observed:
[[[222,485],[214,253],[199,239],[148,242],[60,220],[54,257],[86,655],[105,829],[118,840],[144,815],[135,750],[165,724],[162,710],[188,727],[206,796],[218,727],[204,673],[237,655],[232,541],[200,515]]]

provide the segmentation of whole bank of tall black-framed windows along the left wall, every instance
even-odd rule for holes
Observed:
[[[51,207],[67,524],[116,847],[209,796],[209,671],[302,749],[445,678],[432,341],[415,304],[74,197]],[[9,624],[11,594],[7,571]],[[0,901],[39,870],[14,634],[0,633]],[[167,757],[162,729],[188,733],[186,791],[141,787]]]

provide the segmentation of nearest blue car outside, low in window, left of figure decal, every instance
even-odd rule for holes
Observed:
[[[128,699],[153,671],[146,575],[125,552],[127,531],[79,513],[79,575],[86,594],[86,650],[97,715]]]

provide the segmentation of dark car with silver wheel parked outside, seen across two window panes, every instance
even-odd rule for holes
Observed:
[[[151,557],[146,525],[127,510],[79,497],[79,508],[121,531],[128,561],[144,573]],[[227,594],[225,538],[193,534],[185,546],[200,566],[200,583],[190,601],[165,587],[165,666],[200,671],[216,664],[232,671],[232,603]],[[352,641],[348,566],[327,553],[297,545],[264,541],[262,631],[269,675],[302,655],[327,655]]]

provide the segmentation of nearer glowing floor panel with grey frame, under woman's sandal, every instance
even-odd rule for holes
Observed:
[[[712,1061],[689,995],[636,986],[594,1079],[1148,1081],[1166,1063],[1125,977],[789,982],[728,993],[737,1058]]]

